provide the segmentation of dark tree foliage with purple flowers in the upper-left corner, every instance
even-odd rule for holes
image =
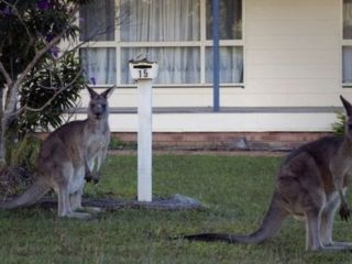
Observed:
[[[15,79],[54,37],[72,41],[78,35],[73,0],[0,0],[0,62]],[[50,57],[48,52],[44,57]],[[0,88],[4,87],[0,75]]]

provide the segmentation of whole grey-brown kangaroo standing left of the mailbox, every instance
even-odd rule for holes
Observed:
[[[1,202],[1,209],[30,206],[54,189],[58,196],[59,217],[91,217],[76,210],[82,209],[85,178],[97,182],[107,155],[110,141],[108,97],[113,88],[98,95],[87,86],[90,95],[88,118],[68,122],[48,135],[40,151],[34,184],[20,197]],[[90,211],[99,211],[99,208],[90,208]]]

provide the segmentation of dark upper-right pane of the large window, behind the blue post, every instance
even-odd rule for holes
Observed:
[[[207,0],[207,38],[212,38],[212,1]],[[242,0],[220,0],[220,38],[242,38]]]

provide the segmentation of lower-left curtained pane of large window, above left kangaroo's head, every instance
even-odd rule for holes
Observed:
[[[79,55],[87,78],[95,78],[97,85],[116,84],[117,58],[113,47],[80,48]]]

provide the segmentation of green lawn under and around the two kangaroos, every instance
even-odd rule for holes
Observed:
[[[153,193],[199,199],[205,210],[122,209],[91,221],[59,219],[56,210],[0,211],[1,263],[351,263],[349,253],[305,252],[304,223],[289,219],[261,245],[169,240],[182,233],[251,232],[273,191],[279,157],[157,155]],[[91,197],[134,199],[136,158],[109,156]],[[336,220],[334,237],[352,241],[350,223]]]

